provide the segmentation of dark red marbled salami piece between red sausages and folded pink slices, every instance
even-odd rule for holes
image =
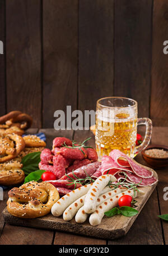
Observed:
[[[86,176],[92,176],[97,168],[101,165],[101,163],[99,161],[96,161],[94,163],[91,163],[91,164],[87,164],[87,165],[84,165],[76,170],[74,170],[74,172],[72,173],[68,173],[68,176],[73,178],[73,179],[77,179],[77,178],[81,178],[81,179],[84,179],[86,178]],[[74,175],[77,177],[74,177]],[[64,175],[61,179],[67,179],[67,176]]]

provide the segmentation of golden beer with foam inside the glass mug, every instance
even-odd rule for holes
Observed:
[[[96,114],[96,151],[99,159],[109,155],[113,149],[119,149],[133,157],[137,136],[137,116],[120,112],[114,118],[104,118]]]

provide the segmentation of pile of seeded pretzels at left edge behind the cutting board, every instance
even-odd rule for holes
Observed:
[[[37,136],[22,137],[31,124],[31,116],[21,111],[11,111],[0,117],[0,185],[23,182],[22,157],[46,146]]]

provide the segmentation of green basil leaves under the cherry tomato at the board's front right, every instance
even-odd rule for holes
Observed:
[[[114,215],[117,215],[117,214],[122,214],[125,217],[131,217],[131,216],[138,214],[138,210],[136,210],[132,207],[129,207],[129,206],[122,206],[120,208],[115,207],[115,208],[109,210],[108,212],[105,212],[104,214],[108,217],[113,217]]]

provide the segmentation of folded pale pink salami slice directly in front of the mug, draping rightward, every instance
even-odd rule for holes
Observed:
[[[141,178],[151,178],[153,176],[153,172],[151,170],[145,169],[138,164],[136,164],[129,156],[125,155],[120,150],[114,149],[110,152],[111,158],[120,165],[120,167],[131,167],[133,172]]]

